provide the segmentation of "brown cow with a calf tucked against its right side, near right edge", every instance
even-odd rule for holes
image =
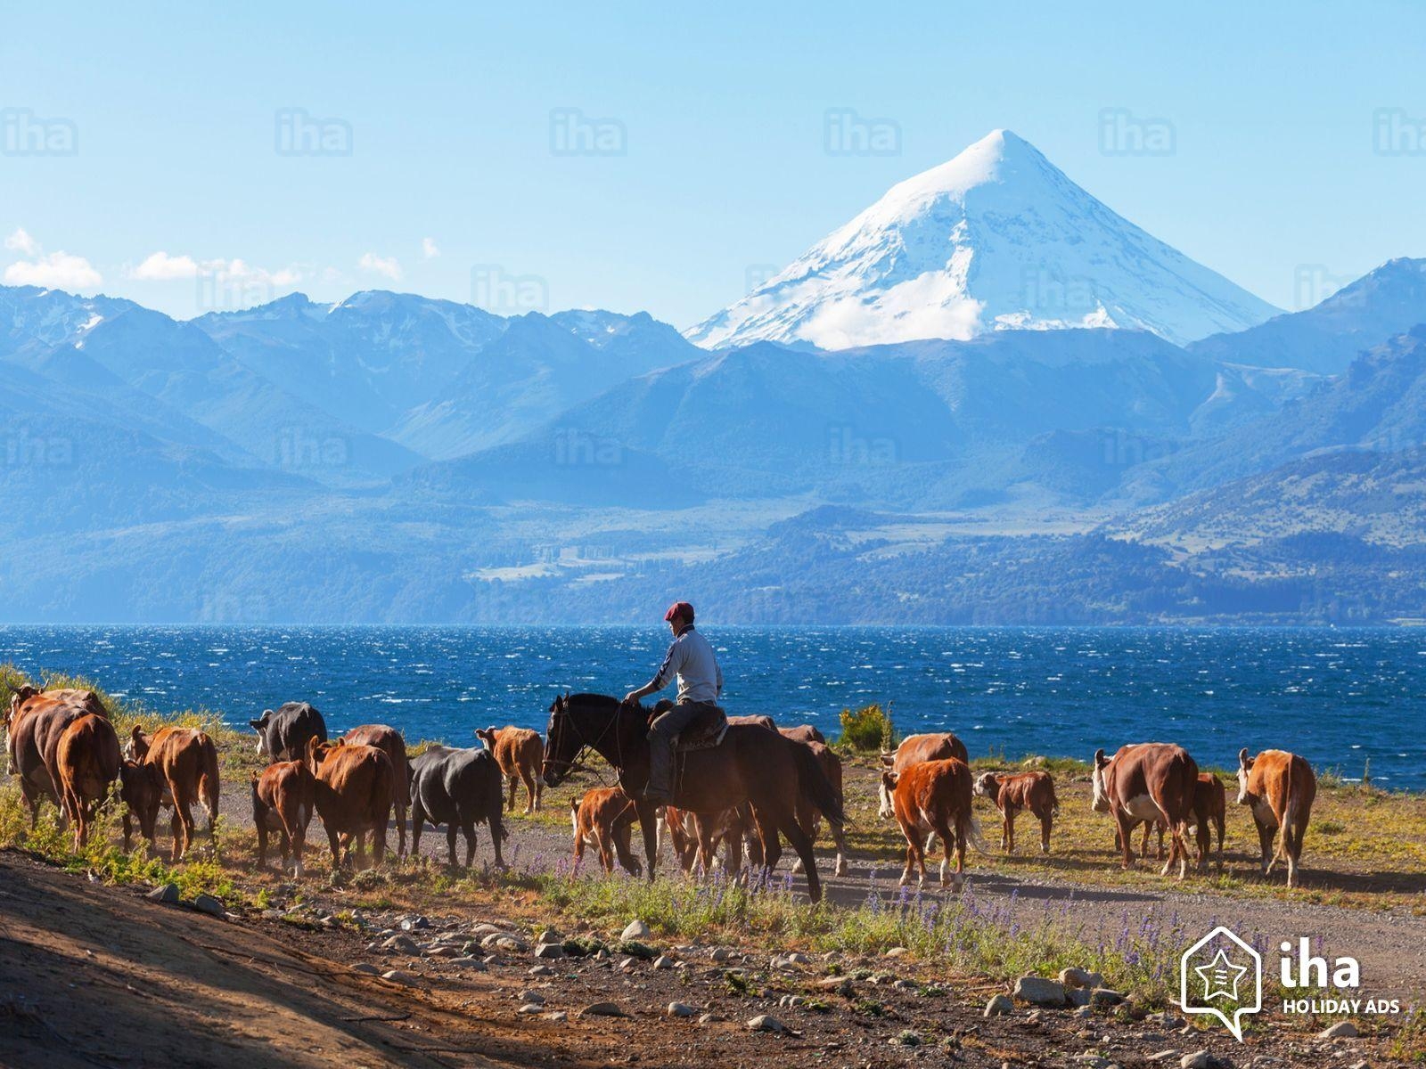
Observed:
[[[1164,821],[1171,835],[1164,875],[1179,862],[1178,878],[1188,875],[1188,828],[1194,822],[1198,764],[1188,751],[1168,743],[1119,747],[1107,758],[1094,755],[1094,810],[1108,812],[1119,830],[1124,868],[1134,868],[1129,835],[1139,821]]]

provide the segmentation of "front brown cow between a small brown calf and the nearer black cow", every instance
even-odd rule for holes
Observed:
[[[365,862],[365,837],[372,837],[372,867],[386,854],[386,824],[395,771],[374,745],[307,743],[307,767],[317,778],[317,812],[332,847],[332,868],[341,868],[342,845],[355,840],[356,867]]]

